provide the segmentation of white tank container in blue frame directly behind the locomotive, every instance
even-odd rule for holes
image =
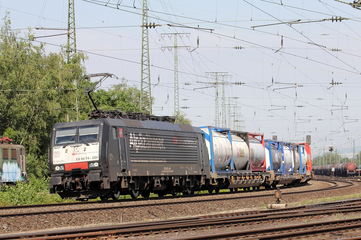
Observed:
[[[202,130],[205,133],[209,134],[208,129]],[[214,157],[214,167],[215,169],[225,170],[226,167],[231,162],[232,146],[228,137],[223,135],[220,132],[212,131],[212,140],[213,140],[213,157]],[[210,143],[206,141],[208,148],[208,155],[210,158]]]

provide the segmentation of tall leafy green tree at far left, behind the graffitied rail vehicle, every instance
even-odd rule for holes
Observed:
[[[25,146],[29,173],[47,174],[50,133],[55,123],[75,119],[74,80],[85,71],[82,53],[65,62],[64,52],[45,54],[34,45],[32,32],[25,37],[11,30],[9,12],[0,36],[0,133]],[[39,166],[40,169],[39,169]]]

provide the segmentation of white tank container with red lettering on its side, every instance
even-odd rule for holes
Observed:
[[[235,135],[232,135],[233,163],[237,170],[242,170],[248,164],[249,149],[246,142]]]

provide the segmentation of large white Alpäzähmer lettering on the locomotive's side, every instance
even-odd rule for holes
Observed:
[[[137,134],[138,136],[135,136]],[[160,137],[150,137],[148,134],[142,136],[142,133],[129,133],[129,146],[138,149],[165,149],[164,139]]]

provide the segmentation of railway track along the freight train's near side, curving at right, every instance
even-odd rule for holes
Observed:
[[[319,180],[321,181],[321,180]],[[289,193],[283,193],[282,195],[292,195],[292,194],[303,194],[303,193],[313,193],[318,191],[325,191],[325,190],[334,190],[334,189],[340,189],[343,187],[349,187],[352,186],[353,183],[349,181],[340,181],[339,182],[345,182],[347,186],[339,186],[337,184],[337,181],[331,181],[331,180],[322,180],[326,182],[330,182],[334,184],[333,186],[324,187],[321,189],[313,189],[313,190],[304,190],[304,191],[294,191]],[[226,197],[226,198],[210,198],[210,199],[202,199],[202,200],[182,200],[182,201],[170,201],[170,202],[162,202],[162,203],[142,203],[142,204],[129,204],[129,205],[116,205],[116,206],[106,206],[106,207],[92,207],[92,208],[74,208],[74,209],[61,209],[61,210],[48,210],[48,211],[34,211],[34,212],[18,212],[18,213],[6,213],[6,214],[0,214],[0,218],[5,217],[23,217],[23,216],[39,216],[39,215],[49,215],[49,214],[61,214],[61,213],[75,213],[75,212],[90,212],[90,211],[96,211],[96,210],[121,210],[121,209],[130,209],[130,208],[142,208],[142,207],[155,207],[155,206],[167,206],[167,205],[176,205],[176,204],[184,204],[184,203],[199,203],[199,202],[207,202],[212,203],[215,201],[224,201],[224,200],[243,200],[243,199],[250,199],[250,198],[261,198],[261,197],[270,197],[274,196],[274,194],[263,194],[263,195],[253,195],[253,196],[232,196],[232,197]],[[34,208],[33,205],[27,205],[29,208]],[[47,206],[40,205],[41,207]],[[15,207],[22,207],[22,206],[15,206]],[[11,207],[3,207],[3,209],[8,209]]]

